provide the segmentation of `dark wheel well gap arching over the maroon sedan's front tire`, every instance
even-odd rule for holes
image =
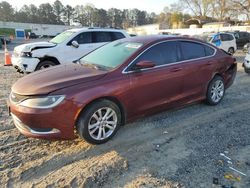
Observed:
[[[119,107],[119,109],[120,109],[120,111],[121,111],[121,116],[122,116],[122,125],[124,125],[125,122],[126,122],[126,111],[125,111],[124,106],[122,105],[122,103],[121,103],[117,98],[107,96],[107,97],[101,97],[101,98],[94,99],[93,101],[91,101],[91,102],[89,102],[87,105],[85,105],[85,106],[82,108],[82,110],[80,111],[80,113],[77,115],[75,126],[77,125],[77,122],[78,122],[79,117],[81,116],[81,114],[84,113],[85,110],[86,110],[90,105],[92,105],[92,104],[94,104],[94,103],[96,103],[96,102],[98,102],[98,101],[101,101],[101,100],[109,100],[109,101],[115,103],[115,104]]]

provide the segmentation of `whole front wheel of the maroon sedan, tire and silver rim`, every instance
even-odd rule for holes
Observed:
[[[90,144],[103,144],[110,140],[121,126],[121,111],[109,101],[91,104],[78,119],[77,131]]]

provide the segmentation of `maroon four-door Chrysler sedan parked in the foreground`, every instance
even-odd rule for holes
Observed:
[[[128,121],[206,101],[216,105],[236,75],[224,51],[196,39],[133,37],[27,75],[12,87],[9,110],[30,137],[92,144],[111,139]]]

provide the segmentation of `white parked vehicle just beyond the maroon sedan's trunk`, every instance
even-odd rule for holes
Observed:
[[[237,50],[236,39],[232,33],[212,34],[208,37],[208,42],[230,54]]]

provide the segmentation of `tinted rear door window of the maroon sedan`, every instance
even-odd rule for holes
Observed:
[[[181,41],[182,60],[206,57],[204,45],[196,42]],[[209,51],[209,50],[208,50]],[[208,54],[211,52],[208,52]]]

